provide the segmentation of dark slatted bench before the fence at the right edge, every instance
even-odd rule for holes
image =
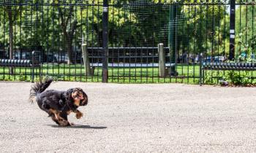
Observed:
[[[206,70],[255,71],[256,63],[203,63],[203,84]]]

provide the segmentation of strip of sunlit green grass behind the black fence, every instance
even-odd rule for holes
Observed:
[[[199,65],[177,65],[178,76],[159,77],[158,68],[108,68],[108,82],[114,83],[187,83],[199,84]],[[227,73],[227,71],[225,71]],[[244,71],[240,71],[244,75]],[[36,71],[36,79],[39,79],[39,71]],[[221,75],[219,75],[221,74]],[[247,73],[248,74],[248,73]],[[214,84],[223,75],[219,71],[207,71],[206,83]],[[80,64],[44,64],[42,76],[52,76],[58,81],[77,82],[102,82],[102,67],[95,67],[93,76],[86,76],[83,65]],[[252,71],[250,77],[255,77]],[[209,81],[211,79],[211,81]],[[9,68],[0,67],[0,80],[31,81],[31,68],[15,68],[14,74],[9,73]],[[215,80],[215,81],[214,81]],[[252,80],[253,81],[253,80]]]

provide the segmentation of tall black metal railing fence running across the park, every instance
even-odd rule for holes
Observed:
[[[0,0],[0,58],[41,52],[37,79],[255,83],[255,71],[202,72],[206,63],[255,63],[255,17],[254,1]],[[1,66],[0,80],[30,81],[31,68]]]

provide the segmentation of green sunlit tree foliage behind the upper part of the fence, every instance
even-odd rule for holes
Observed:
[[[111,0],[108,8],[109,46],[157,47],[160,42],[166,46],[173,24],[170,6],[176,2],[179,4],[175,23],[178,54],[227,55],[227,1]],[[219,5],[212,5],[213,2]],[[69,56],[70,63],[75,63],[82,39],[89,47],[102,47],[102,9],[102,0],[3,3],[0,6],[1,50],[61,52]],[[253,10],[254,6],[236,9],[236,25],[240,25],[236,28],[236,34],[240,36],[236,40],[255,48]]]

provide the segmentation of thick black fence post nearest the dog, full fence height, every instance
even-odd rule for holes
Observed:
[[[102,63],[102,82],[108,82],[108,0],[103,1],[102,15],[102,51],[104,54]]]

